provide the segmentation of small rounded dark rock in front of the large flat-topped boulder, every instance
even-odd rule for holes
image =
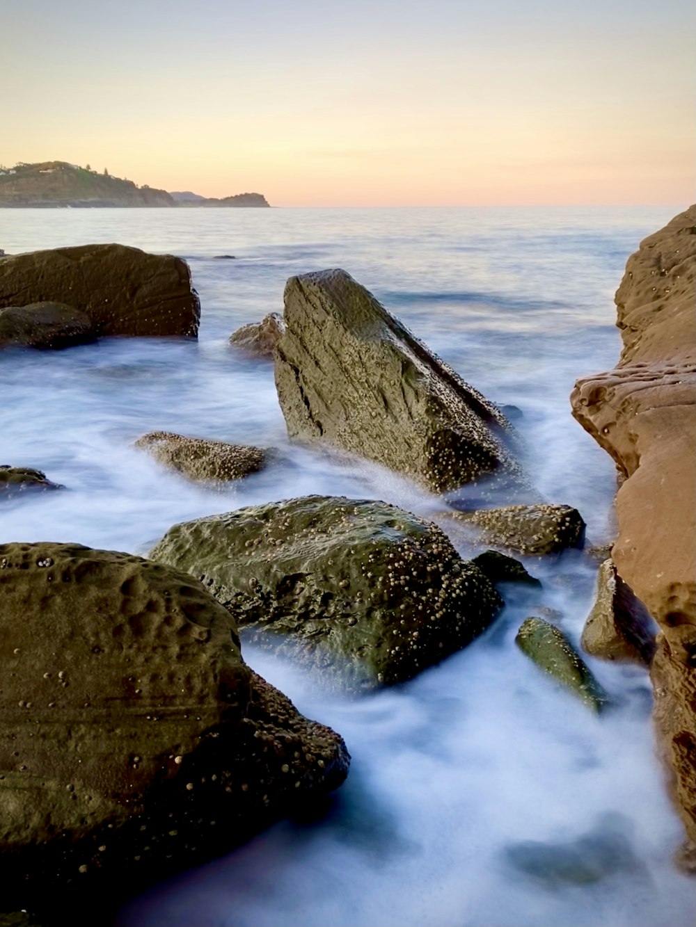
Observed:
[[[34,302],[0,309],[0,349],[60,349],[97,338],[89,316],[63,302]]]

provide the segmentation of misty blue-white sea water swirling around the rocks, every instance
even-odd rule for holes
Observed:
[[[625,260],[679,209],[0,210],[7,253],[118,241],[178,254],[202,307],[198,342],[3,352],[0,463],[67,489],[4,503],[0,542],[147,554],[176,522],[315,492],[432,515],[438,501],[406,479],[291,446],[272,365],[227,343],[282,311],[291,274],[327,267],[352,273],[489,399],[518,406],[535,485],[580,510],[588,540],[611,540],[613,464],[568,396],[616,361]],[[155,429],[281,453],[215,491],[134,448]],[[447,529],[463,555],[485,547]],[[577,641],[597,565],[580,552],[525,564],[542,590],[504,587],[491,629],[392,690],[348,699],[244,647],[303,714],[342,734],[348,780],[323,818],[281,821],[154,888],[122,909],[123,927],[690,927],[647,674],[587,658],[616,703],[601,717],[544,676],[515,633],[536,614]]]

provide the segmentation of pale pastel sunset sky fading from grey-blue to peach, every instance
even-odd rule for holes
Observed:
[[[274,206],[691,202],[692,0],[0,0],[0,163]]]

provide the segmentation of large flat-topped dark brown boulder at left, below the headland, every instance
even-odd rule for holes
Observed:
[[[0,258],[0,309],[51,300],[83,311],[97,336],[198,333],[186,261],[124,245],[81,245]]]

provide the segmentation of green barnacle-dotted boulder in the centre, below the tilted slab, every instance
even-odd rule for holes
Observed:
[[[349,691],[410,679],[501,604],[440,528],[385,502],[251,506],[176,525],[150,556],[200,578],[262,646]]]

